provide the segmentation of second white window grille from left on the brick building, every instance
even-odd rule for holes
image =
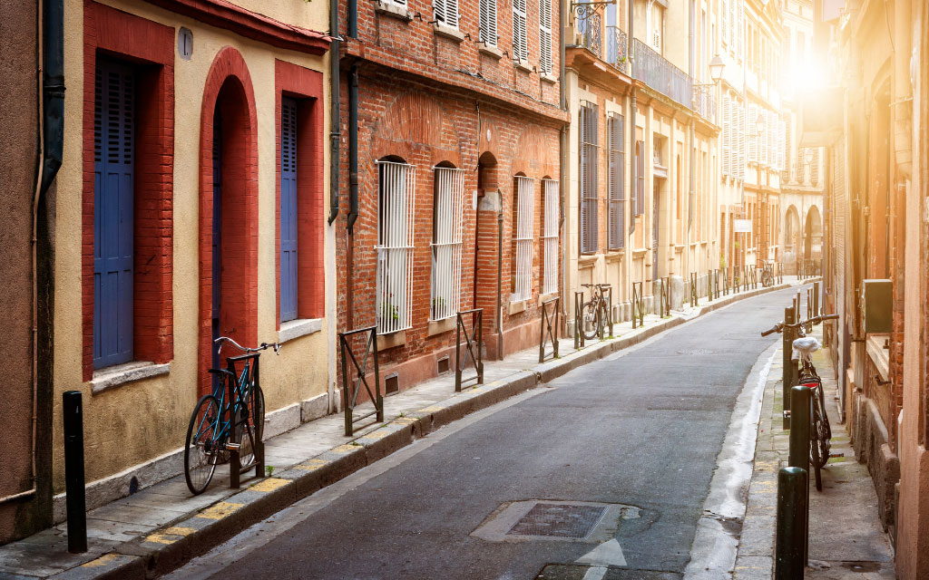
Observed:
[[[461,309],[464,171],[436,168],[432,230],[432,300],[430,316],[443,320]]]

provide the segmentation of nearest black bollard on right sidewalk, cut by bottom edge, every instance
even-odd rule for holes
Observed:
[[[778,471],[775,580],[804,577],[808,477],[807,472],[800,468],[785,467]]]

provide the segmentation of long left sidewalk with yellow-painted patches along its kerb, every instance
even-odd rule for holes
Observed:
[[[562,339],[560,357],[541,364],[538,347],[504,361],[487,361],[484,384],[463,393],[454,393],[454,374],[447,373],[386,397],[386,422],[357,429],[353,437],[344,435],[342,414],[310,421],[268,438],[266,464],[274,468],[271,477],[256,479],[251,471],[243,475],[240,489],[229,489],[229,468],[222,466],[201,496],[190,496],[183,475],[151,485],[88,512],[88,551],[84,554],[67,552],[64,523],[0,547],[0,578],[145,578],[164,574],[297,499],[452,420],[728,303],[812,280],[784,277],[783,284],[771,289],[759,285],[757,290],[730,293],[715,301],[704,298],[695,308],[674,311],[672,316],[646,316],[644,327],[638,329],[632,329],[631,322],[616,324],[614,338],[587,342],[578,351],[573,349],[573,340]],[[373,410],[370,403],[358,407],[360,415],[369,410]]]

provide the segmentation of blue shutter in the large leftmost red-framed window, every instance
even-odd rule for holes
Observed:
[[[136,80],[98,59],[94,111],[94,367],[132,360]]]

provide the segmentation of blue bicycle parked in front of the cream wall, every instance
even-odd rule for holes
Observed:
[[[265,395],[257,377],[258,356],[268,348],[280,353],[281,345],[262,342],[257,348],[248,348],[222,336],[213,342],[218,360],[222,360],[227,342],[243,354],[227,358],[226,368],[209,369],[215,377],[213,391],[197,402],[187,428],[184,479],[194,496],[209,485],[217,465],[229,463],[233,450],[239,452],[240,470],[253,467],[255,448],[264,432]],[[237,363],[242,364],[241,370],[236,368]]]

